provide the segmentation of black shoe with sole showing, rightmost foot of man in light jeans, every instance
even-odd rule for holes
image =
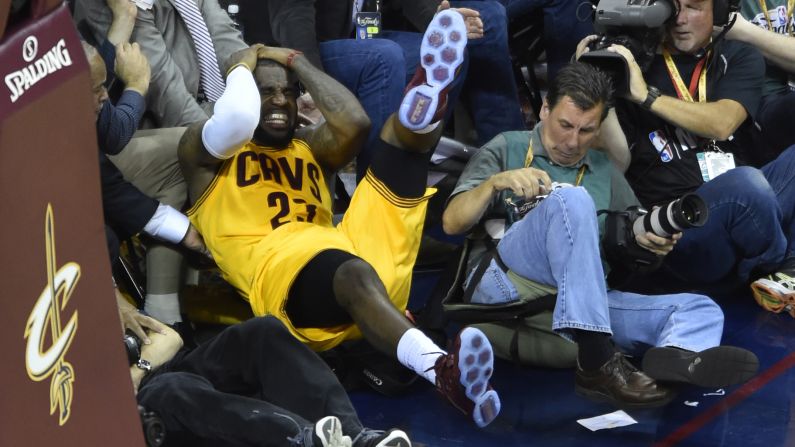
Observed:
[[[746,382],[759,370],[753,352],[735,346],[716,346],[701,352],[651,348],[643,356],[643,371],[656,380],[722,388]]]

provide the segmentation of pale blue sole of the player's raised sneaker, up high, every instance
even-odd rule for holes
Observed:
[[[467,29],[461,14],[448,9],[434,16],[420,47],[426,84],[409,90],[398,110],[404,127],[421,130],[431,123],[439,106],[439,93],[453,82],[464,61],[466,44]]]

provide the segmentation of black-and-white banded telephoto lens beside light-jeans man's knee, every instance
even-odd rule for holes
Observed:
[[[671,237],[688,228],[703,226],[708,217],[709,208],[704,199],[689,193],[639,217],[632,230],[636,235],[650,231],[660,237]]]

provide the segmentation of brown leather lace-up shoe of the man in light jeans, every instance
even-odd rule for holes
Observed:
[[[574,382],[577,394],[610,402],[619,408],[657,407],[674,397],[673,390],[638,371],[620,352],[613,354],[596,371],[583,371],[578,367]]]

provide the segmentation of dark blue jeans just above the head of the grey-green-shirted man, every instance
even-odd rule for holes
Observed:
[[[590,0],[497,0],[505,6],[508,20],[520,19],[542,9],[544,13],[544,48],[547,53],[547,77],[554,79],[566,65],[583,37],[594,33],[587,15]],[[585,6],[582,6],[585,4]],[[586,16],[585,20],[578,17]]]

